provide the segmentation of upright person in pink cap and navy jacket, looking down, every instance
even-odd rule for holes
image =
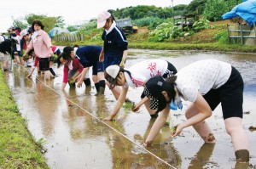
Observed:
[[[125,59],[128,54],[128,41],[123,31],[116,25],[114,17],[107,11],[98,14],[97,28],[104,28],[102,40],[104,41],[99,61],[104,61],[106,68],[109,65],[125,67]],[[109,84],[107,82],[109,87]],[[112,93],[115,99],[119,98],[120,87],[114,87]]]

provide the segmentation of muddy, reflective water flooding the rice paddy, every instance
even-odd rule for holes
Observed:
[[[173,51],[130,50],[126,66],[148,58],[166,59],[177,70],[199,59],[219,59],[229,62],[241,72],[245,82],[243,127],[250,143],[250,163],[239,166],[225,132],[221,108],[213,112],[207,122],[214,131],[216,144],[204,144],[192,127],[172,139],[170,127],[163,127],[154,145],[145,149],[152,120],[141,108],[138,114],[123,107],[116,121],[102,119],[113,109],[115,100],[107,89],[105,96],[96,97],[94,87],[61,89],[62,69],[59,75],[44,81],[35,72],[27,79],[27,70],[14,66],[5,72],[11,92],[29,130],[38,140],[44,138],[45,157],[51,168],[249,168],[256,167],[256,54],[220,54]],[[38,78],[36,78],[38,77]],[[137,102],[143,88],[129,89],[128,97]],[[183,121],[182,111],[173,111],[172,125]],[[167,163],[167,164],[166,164]]]

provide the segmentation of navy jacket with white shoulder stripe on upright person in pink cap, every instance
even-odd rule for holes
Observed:
[[[102,33],[104,41],[104,58],[105,57],[123,57],[123,53],[128,49],[128,42],[123,31],[119,27],[114,26],[113,30],[107,35],[107,31]]]

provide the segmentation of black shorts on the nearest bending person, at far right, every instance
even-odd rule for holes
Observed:
[[[211,89],[203,97],[207,100],[212,111],[221,103],[224,119],[242,118],[243,86],[241,74],[232,66],[229,80],[223,86]]]

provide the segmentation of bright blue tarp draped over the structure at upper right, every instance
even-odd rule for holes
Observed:
[[[249,25],[256,22],[256,0],[244,0],[243,3],[236,5],[232,10],[222,15],[222,19],[230,19],[240,16]]]

